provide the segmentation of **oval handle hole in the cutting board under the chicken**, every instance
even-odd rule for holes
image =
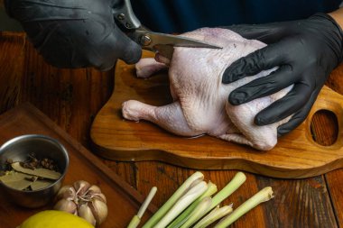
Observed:
[[[330,146],[338,139],[338,119],[329,110],[319,110],[311,119],[311,136],[322,146]]]

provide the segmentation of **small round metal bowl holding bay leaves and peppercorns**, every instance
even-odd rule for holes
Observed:
[[[47,205],[68,167],[68,151],[60,141],[42,134],[17,136],[0,147],[0,188],[17,205]]]

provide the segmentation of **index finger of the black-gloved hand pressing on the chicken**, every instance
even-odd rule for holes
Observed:
[[[222,82],[231,83],[246,76],[254,76],[262,70],[283,65],[284,58],[283,52],[279,50],[280,46],[282,46],[281,43],[271,44],[237,59],[224,71]]]

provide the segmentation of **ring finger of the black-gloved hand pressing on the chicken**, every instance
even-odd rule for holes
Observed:
[[[305,84],[296,84],[283,98],[264,108],[255,116],[255,124],[267,125],[276,123],[291,114],[297,113],[304,105],[311,102],[311,88]]]

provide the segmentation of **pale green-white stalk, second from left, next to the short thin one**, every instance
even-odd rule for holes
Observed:
[[[155,213],[153,216],[146,222],[144,223],[143,228],[151,228],[153,225],[158,223],[161,218],[166,214],[171,208],[172,205],[175,204],[175,202],[185,194],[185,192],[190,188],[190,186],[194,185],[194,183],[199,183],[199,181],[203,180],[204,175],[201,172],[195,172],[188,178],[181,187],[179,187],[174,194],[165,202],[164,205]]]

